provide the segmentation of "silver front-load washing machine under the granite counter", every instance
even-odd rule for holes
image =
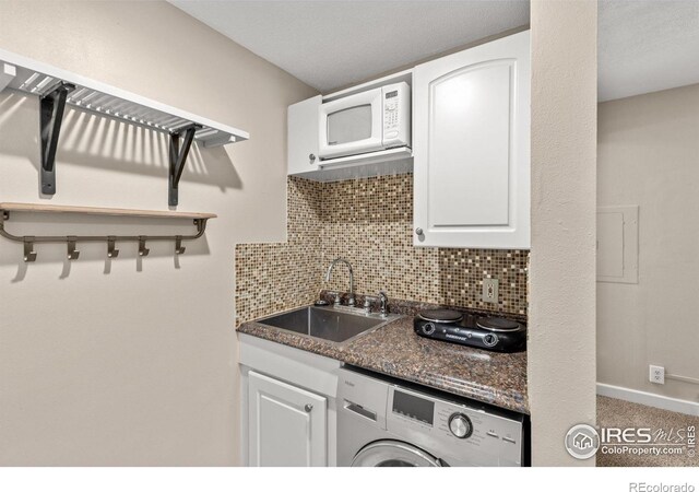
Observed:
[[[525,415],[352,366],[340,370],[337,465],[526,465]]]

